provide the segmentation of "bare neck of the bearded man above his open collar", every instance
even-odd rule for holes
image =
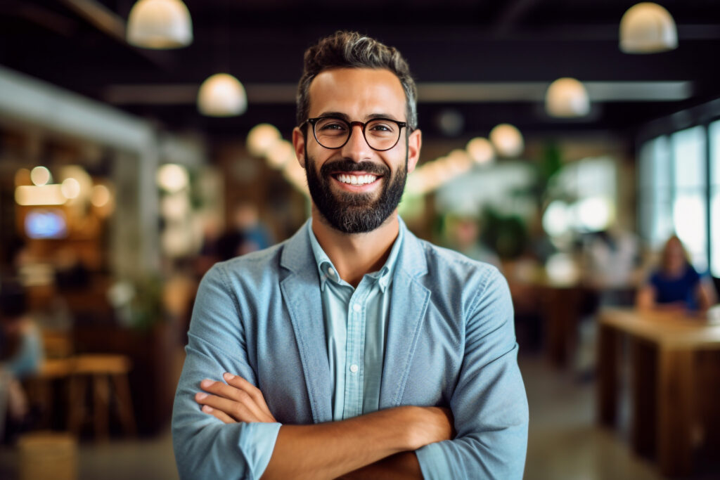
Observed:
[[[352,286],[358,286],[366,273],[382,268],[399,231],[397,210],[372,232],[343,233],[328,225],[312,207],[312,233],[340,278]]]

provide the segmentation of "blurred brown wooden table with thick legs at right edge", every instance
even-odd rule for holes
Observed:
[[[697,357],[720,352],[720,325],[698,317],[634,309],[603,309],[598,337],[598,420],[615,425],[618,410],[619,340],[630,340],[631,443],[654,455],[662,474],[687,475],[693,450],[703,440],[703,396],[718,383],[698,381]],[[712,378],[720,378],[720,356],[712,356]],[[707,371],[708,365],[703,365]],[[716,375],[717,373],[717,375]],[[716,402],[716,398],[714,400]],[[716,427],[716,425],[714,426]]]

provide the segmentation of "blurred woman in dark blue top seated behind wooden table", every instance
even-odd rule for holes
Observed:
[[[714,303],[714,287],[690,265],[680,239],[670,237],[662,248],[660,268],[639,289],[639,309],[705,312]]]

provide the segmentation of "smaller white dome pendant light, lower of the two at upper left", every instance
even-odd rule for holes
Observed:
[[[248,98],[243,84],[228,73],[207,78],[197,94],[197,109],[209,117],[233,117],[245,113]]]

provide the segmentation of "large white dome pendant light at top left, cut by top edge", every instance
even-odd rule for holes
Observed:
[[[167,49],[192,43],[190,12],[180,0],[138,0],[127,19],[127,42]]]

